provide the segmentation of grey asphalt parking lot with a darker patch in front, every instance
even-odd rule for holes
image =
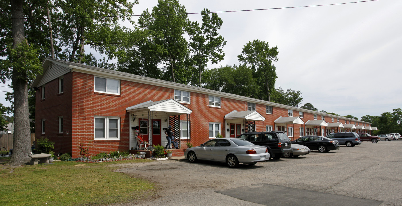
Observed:
[[[342,145],[327,153],[240,164],[165,160],[119,172],[160,185],[155,199],[125,205],[402,206],[402,140]]]

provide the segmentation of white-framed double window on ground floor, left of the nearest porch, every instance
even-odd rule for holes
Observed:
[[[94,117],[94,139],[120,139],[120,117]]]

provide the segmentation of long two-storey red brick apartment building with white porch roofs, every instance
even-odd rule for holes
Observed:
[[[199,145],[220,133],[246,131],[304,135],[375,130],[371,123],[179,83],[46,58],[36,89],[36,136],[55,142],[56,153],[79,156],[137,148],[139,126],[151,145],[166,145],[164,130],[174,128],[180,148]]]

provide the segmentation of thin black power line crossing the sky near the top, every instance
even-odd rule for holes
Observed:
[[[346,3],[336,3],[336,4],[320,4],[320,5],[311,5],[311,6],[290,6],[290,7],[280,7],[280,8],[260,8],[260,9],[248,9],[248,10],[231,10],[231,11],[218,11],[218,12],[209,12],[209,13],[226,13],[226,12],[246,12],[246,11],[262,11],[262,10],[274,10],[274,9],[285,9],[285,8],[306,8],[306,7],[316,7],[316,6],[333,6],[333,5],[342,5],[342,4],[355,4],[355,3],[363,3],[363,2],[373,2],[378,0],[366,0],[366,1],[358,1],[358,2],[346,2]],[[183,15],[183,14],[202,14],[203,12],[193,12],[193,13],[174,13],[174,14],[141,14],[141,15],[120,15],[120,16],[84,16],[84,17],[51,17],[51,19],[69,19],[69,18],[107,18],[107,17],[131,17],[131,16],[163,16],[163,15]],[[11,17],[0,17],[11,19]],[[23,18],[23,19],[47,19],[47,18]]]

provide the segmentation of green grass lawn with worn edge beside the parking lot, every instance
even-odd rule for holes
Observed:
[[[0,160],[4,164],[9,158]],[[147,161],[153,160],[1,166],[0,205],[101,205],[148,199],[157,190],[152,182],[113,172],[121,168],[117,164]]]

